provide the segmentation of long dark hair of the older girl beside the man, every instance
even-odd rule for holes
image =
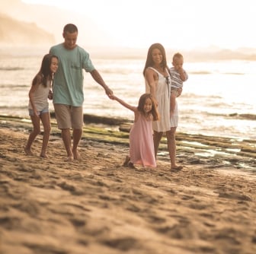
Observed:
[[[52,54],[46,54],[43,56],[40,71],[38,71],[37,75],[34,77],[32,85],[37,84],[40,81],[44,87],[47,87],[47,78],[53,78],[53,72],[50,70],[50,65],[53,58],[58,59],[57,56]]]

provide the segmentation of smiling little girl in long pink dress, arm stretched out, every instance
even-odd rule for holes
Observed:
[[[123,166],[139,164],[156,167],[152,121],[158,120],[158,110],[152,95],[142,94],[138,106],[131,106],[114,95],[110,98],[134,112],[134,123],[130,129],[130,157],[126,157]]]

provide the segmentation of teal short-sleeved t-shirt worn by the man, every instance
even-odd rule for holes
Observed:
[[[63,43],[60,43],[52,46],[50,53],[59,58],[59,67],[53,78],[53,103],[82,106],[83,69],[86,72],[94,70],[88,52],[80,46],[71,50],[66,49]]]

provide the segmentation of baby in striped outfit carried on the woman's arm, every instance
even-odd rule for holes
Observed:
[[[174,109],[176,105],[176,97],[181,94],[183,82],[187,81],[187,72],[183,69],[183,56],[181,53],[174,54],[172,58],[172,65],[169,69],[171,75],[171,116],[174,115]]]

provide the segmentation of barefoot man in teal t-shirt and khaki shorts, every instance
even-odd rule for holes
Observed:
[[[76,44],[78,28],[75,24],[66,24],[62,36],[64,43],[50,48],[50,53],[59,58],[59,68],[53,78],[53,105],[58,128],[62,132],[68,155],[67,161],[79,160],[78,144],[82,137],[83,110],[83,70],[90,72],[94,81],[100,84],[108,97],[113,94],[99,72],[94,68],[88,52]],[[71,133],[73,129],[73,147]]]

